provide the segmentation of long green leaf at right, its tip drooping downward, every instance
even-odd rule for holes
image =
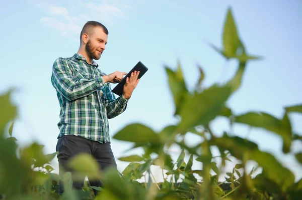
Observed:
[[[249,112],[240,116],[236,116],[234,121],[237,123],[264,128],[266,130],[277,133],[283,138],[283,152],[289,152],[292,138],[291,130],[289,129],[288,125],[284,125],[281,120],[264,112]]]

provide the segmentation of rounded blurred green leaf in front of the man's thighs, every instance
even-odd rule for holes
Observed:
[[[91,178],[99,178],[100,170],[96,160],[88,153],[79,153],[68,161],[68,166],[77,171],[79,178],[87,175]],[[73,174],[72,174],[73,176]]]

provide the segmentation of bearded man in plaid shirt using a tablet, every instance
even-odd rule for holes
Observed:
[[[67,162],[79,153],[92,155],[101,170],[116,168],[108,119],[125,111],[139,82],[139,72],[126,79],[123,94],[115,98],[110,83],[120,82],[127,73],[116,71],[106,75],[94,61],[103,54],[107,39],[107,28],[99,22],[89,21],[81,31],[79,51],[72,57],[58,58],[53,64],[51,83],[60,104],[56,145],[59,174],[72,171]],[[83,181],[73,181],[73,187],[82,189],[84,178]],[[102,186],[100,180],[90,180],[90,184]],[[59,188],[59,193],[62,193],[61,182]]]

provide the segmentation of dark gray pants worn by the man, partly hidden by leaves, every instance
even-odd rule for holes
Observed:
[[[70,171],[72,173],[72,170],[67,167],[67,162],[71,157],[78,153],[88,153],[92,155],[97,160],[101,170],[105,170],[107,167],[114,167],[116,169],[116,162],[110,143],[102,144],[75,135],[65,135],[58,138],[56,151],[58,152],[57,158],[59,162],[59,175],[62,175],[62,173],[66,171]],[[85,177],[83,177],[82,181],[73,181],[73,187],[75,189],[82,189],[84,179]],[[91,186],[103,187],[100,180],[89,180],[89,183]],[[60,181],[59,194],[63,192],[63,183]],[[94,192],[97,194],[96,190],[94,190]]]

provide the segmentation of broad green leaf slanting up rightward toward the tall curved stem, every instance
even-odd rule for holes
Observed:
[[[181,122],[178,126],[180,132],[185,131],[197,125],[207,124],[209,121],[221,115],[224,103],[231,95],[229,86],[212,87],[204,90],[202,93],[196,93],[184,103],[181,110]]]

